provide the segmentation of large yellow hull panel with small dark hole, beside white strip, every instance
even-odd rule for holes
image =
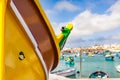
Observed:
[[[26,32],[7,7],[5,13],[5,80],[45,80],[43,65]],[[25,58],[20,60],[20,52]]]

